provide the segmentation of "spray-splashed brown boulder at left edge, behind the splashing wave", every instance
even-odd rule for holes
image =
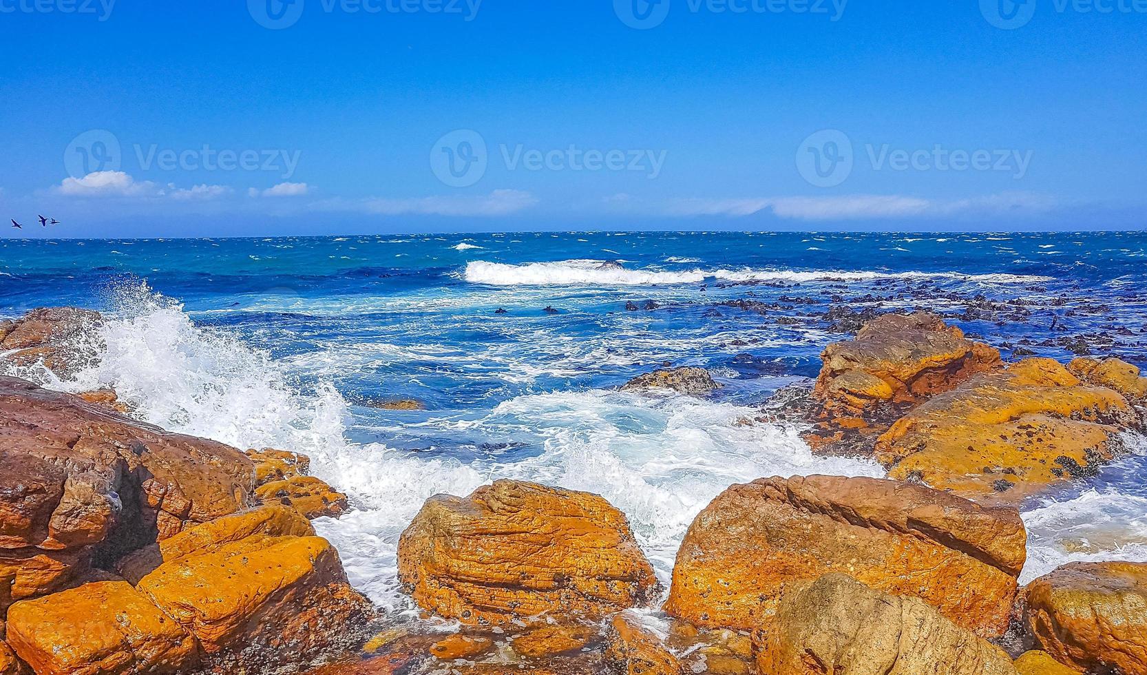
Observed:
[[[0,327],[0,362],[17,366],[42,363],[60,377],[93,363],[89,338],[102,323],[99,312],[72,307],[40,308]]]

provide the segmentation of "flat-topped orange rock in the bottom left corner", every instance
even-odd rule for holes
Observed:
[[[16,603],[8,641],[38,675],[175,674],[200,662],[195,639],[123,581]]]

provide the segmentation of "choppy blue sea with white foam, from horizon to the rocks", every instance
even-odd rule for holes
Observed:
[[[320,534],[357,587],[404,611],[398,536],[435,494],[499,478],[601,494],[668,580],[693,517],[732,483],[881,475],[813,456],[798,429],[746,424],[816,377],[824,347],[849,338],[844,309],[928,309],[1007,358],[1147,367],[1145,263],[1142,233],[0,240],[0,318],[109,312],[103,359],[78,381],[9,374],[111,386],[169,429],[310,455],[356,507]],[[666,363],[724,388],[617,390]],[[426,410],[377,408],[406,398]],[[1129,445],[1024,505],[1023,581],[1068,560],[1147,560],[1147,444]]]

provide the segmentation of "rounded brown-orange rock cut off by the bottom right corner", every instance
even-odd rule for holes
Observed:
[[[1147,564],[1072,562],[1028,584],[1039,649],[1085,672],[1147,674]]]

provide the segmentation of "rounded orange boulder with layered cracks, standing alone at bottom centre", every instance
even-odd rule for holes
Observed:
[[[602,615],[657,592],[617,509],[517,481],[428,499],[399,541],[398,574],[420,606],[469,624]]]

